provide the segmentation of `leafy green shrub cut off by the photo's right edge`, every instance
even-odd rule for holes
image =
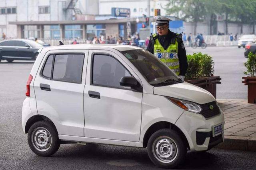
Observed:
[[[250,52],[248,54],[247,61],[244,63],[244,66],[246,66],[247,68],[247,71],[244,72],[244,74],[255,77],[256,76],[256,54],[252,54],[252,52]]]

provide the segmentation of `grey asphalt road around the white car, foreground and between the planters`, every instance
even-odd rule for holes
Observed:
[[[187,51],[191,52],[192,49]],[[222,84],[217,84],[220,90],[218,96],[233,91],[234,94],[230,96],[246,95],[246,89],[237,93],[239,89],[244,88],[241,82],[243,75],[238,74],[238,70],[243,70],[242,63],[246,60],[242,56],[243,51],[230,47],[204,50],[214,57],[215,75],[222,77]],[[32,66],[32,62],[0,63],[0,170],[158,169],[148,158],[145,148],[65,144],[51,157],[36,156],[28,146],[27,135],[23,133],[21,123],[22,102],[25,99],[26,82]],[[232,78],[228,78],[224,70],[228,70],[228,75]],[[235,85],[236,83],[239,84]],[[229,91],[220,89],[220,86]],[[231,88],[234,89],[230,90]],[[256,152],[212,149],[206,153],[188,152],[185,164],[179,168],[252,170],[256,167],[255,160]]]

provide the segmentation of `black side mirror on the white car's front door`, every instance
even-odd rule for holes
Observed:
[[[120,80],[120,85],[131,87],[132,89],[134,89],[138,92],[142,92],[142,89],[143,89],[142,86],[140,85],[140,83],[138,83],[138,81],[136,80],[136,78],[134,78],[132,76],[122,77]]]

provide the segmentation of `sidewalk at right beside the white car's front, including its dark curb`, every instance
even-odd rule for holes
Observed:
[[[256,104],[217,100],[224,112],[225,141],[216,148],[256,151]]]

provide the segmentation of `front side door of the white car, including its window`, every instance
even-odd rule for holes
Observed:
[[[85,137],[139,141],[142,92],[120,86],[123,76],[134,76],[141,84],[114,52],[89,51],[84,89]]]

